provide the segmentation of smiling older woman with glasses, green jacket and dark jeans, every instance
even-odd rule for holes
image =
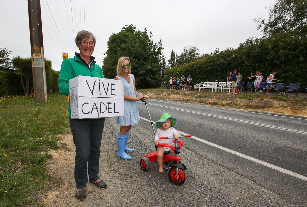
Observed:
[[[62,95],[69,95],[69,80],[78,75],[103,78],[101,67],[96,65],[95,57],[91,56],[96,44],[95,36],[91,32],[82,30],[77,34],[75,42],[80,54],[76,52],[74,58],[64,59],[61,66],[59,90]],[[98,177],[104,118],[72,119],[69,103],[68,114],[72,139],[76,146],[76,197],[83,201],[86,198],[87,173],[89,182],[95,183],[101,189],[107,187],[107,184]]]

